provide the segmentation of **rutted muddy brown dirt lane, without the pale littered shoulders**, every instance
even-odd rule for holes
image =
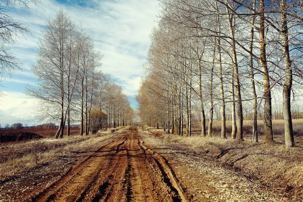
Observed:
[[[186,201],[165,159],[135,126],[74,167],[37,201]]]

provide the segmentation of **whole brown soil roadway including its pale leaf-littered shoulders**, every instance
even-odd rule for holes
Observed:
[[[0,182],[0,201],[300,201],[135,126],[115,134]]]

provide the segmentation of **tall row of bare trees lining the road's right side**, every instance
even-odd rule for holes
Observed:
[[[263,110],[269,143],[275,90],[283,100],[285,145],[294,146],[291,96],[293,83],[302,78],[301,1],[163,0],[161,5],[148,76],[137,97],[142,121],[161,123],[167,132],[172,125],[180,135],[184,119],[190,135],[192,111],[198,108],[201,136],[211,136],[214,110],[220,108],[221,137],[226,138],[228,109],[231,137],[242,140],[246,105],[254,117],[253,141],[258,142],[257,117]]]

